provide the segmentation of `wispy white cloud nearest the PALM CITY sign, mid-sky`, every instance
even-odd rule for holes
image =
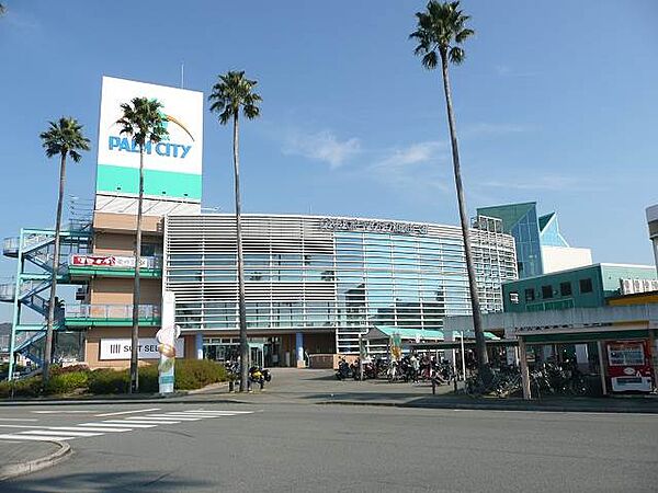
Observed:
[[[316,134],[293,133],[288,135],[283,147],[284,154],[303,156],[315,161],[324,161],[331,168],[342,165],[360,152],[361,141],[358,138],[341,141],[330,130]]]

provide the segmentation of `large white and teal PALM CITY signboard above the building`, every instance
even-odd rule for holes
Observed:
[[[203,153],[203,93],[183,89],[103,77],[97,194],[138,194],[139,148],[121,134],[116,124],[121,105],[134,98],[162,103],[168,136],[145,146],[145,196],[201,200]]]

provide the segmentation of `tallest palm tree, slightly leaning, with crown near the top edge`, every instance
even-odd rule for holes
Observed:
[[[470,237],[468,217],[466,216],[466,200],[464,198],[464,186],[462,185],[462,171],[460,167],[460,149],[457,145],[457,130],[452,106],[452,94],[450,89],[449,62],[460,65],[464,61],[464,48],[462,43],[475,32],[465,26],[470,19],[460,10],[460,2],[439,3],[431,0],[424,12],[417,12],[417,28],[409,36],[418,41],[415,55],[422,56],[422,65],[433,70],[441,64],[443,74],[443,91],[445,93],[445,105],[447,108],[447,125],[452,145],[453,168],[455,174],[455,187],[457,191],[457,204],[460,208],[460,220],[462,223],[462,237],[464,239],[464,253],[466,255],[466,270],[468,272],[468,288],[470,291],[470,307],[473,310],[473,328],[475,331],[475,346],[478,360],[479,378],[488,383],[491,378],[489,358],[485,345],[483,332],[479,296],[475,267],[473,265],[473,253],[470,250]]]

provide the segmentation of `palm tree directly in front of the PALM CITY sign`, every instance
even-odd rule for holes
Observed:
[[[160,111],[162,104],[158,100],[134,98],[131,103],[121,105],[123,116],[116,121],[121,125],[121,134],[128,135],[139,147],[139,198],[137,200],[137,232],[135,239],[135,285],[133,288],[133,332],[131,345],[131,388],[129,392],[139,390],[138,345],[139,345],[139,268],[141,263],[141,208],[144,203],[144,148],[147,142],[157,144],[167,135],[166,116]]]

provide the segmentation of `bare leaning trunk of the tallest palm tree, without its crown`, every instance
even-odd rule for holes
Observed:
[[[473,311],[473,329],[475,331],[475,352],[478,363],[478,376],[484,382],[489,382],[491,370],[489,357],[485,345],[485,333],[480,317],[479,295],[477,293],[477,279],[475,266],[473,265],[473,252],[470,250],[470,228],[466,215],[466,200],[464,198],[464,186],[462,185],[462,170],[460,165],[460,149],[457,144],[457,129],[452,107],[452,95],[450,90],[450,78],[447,73],[447,54],[441,51],[441,69],[443,71],[443,91],[445,92],[445,105],[447,108],[447,125],[450,127],[450,140],[453,154],[453,168],[455,172],[455,187],[457,190],[457,204],[460,207],[460,221],[462,223],[462,237],[464,239],[464,254],[466,255],[466,271],[468,272],[468,289],[470,293],[470,309]],[[462,355],[464,357],[464,355]]]

